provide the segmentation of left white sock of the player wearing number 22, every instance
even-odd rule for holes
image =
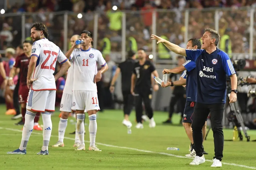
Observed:
[[[22,151],[27,148],[28,139],[33,131],[35,116],[35,113],[26,110],[25,123],[22,130],[22,139],[19,146],[19,149]]]

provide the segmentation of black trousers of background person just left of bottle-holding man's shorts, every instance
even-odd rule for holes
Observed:
[[[185,104],[186,104],[186,98],[184,98],[183,93],[178,93],[178,94],[173,94],[173,97],[171,97],[170,104],[169,104],[169,106],[170,106],[169,119],[172,119],[173,112],[174,112],[174,106],[177,102],[179,102],[178,110],[182,113],[181,117],[183,117],[183,111],[184,111]]]

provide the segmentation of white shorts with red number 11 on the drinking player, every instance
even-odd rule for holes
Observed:
[[[73,90],[72,110],[100,110],[97,91]]]

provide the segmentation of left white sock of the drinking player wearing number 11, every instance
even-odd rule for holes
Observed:
[[[80,145],[84,145],[84,113],[77,113],[76,131],[78,133]]]

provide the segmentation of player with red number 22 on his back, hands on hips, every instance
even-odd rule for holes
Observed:
[[[31,27],[33,46],[27,74],[27,86],[30,89],[27,98],[25,124],[19,149],[8,154],[26,154],[29,137],[33,131],[34,118],[37,112],[42,113],[43,146],[38,155],[49,155],[48,145],[51,136],[51,112],[55,111],[56,84],[70,67],[70,62],[60,48],[48,39],[46,26],[37,22]],[[54,76],[56,60],[62,64],[60,71]]]

